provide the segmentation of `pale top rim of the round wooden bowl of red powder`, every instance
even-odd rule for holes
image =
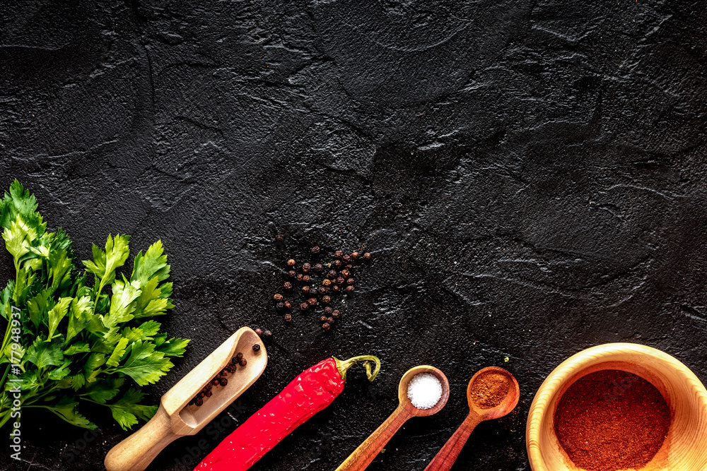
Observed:
[[[595,345],[585,350],[581,350],[573,354],[564,362],[559,364],[542,382],[535,393],[535,397],[530,405],[528,412],[527,425],[525,431],[525,443],[532,471],[558,471],[550,470],[544,463],[542,452],[540,451],[540,428],[543,423],[544,415],[550,405],[551,398],[565,386],[566,382],[571,380],[575,374],[588,368],[591,364],[595,364],[597,359],[602,357],[611,357],[616,354],[643,354],[646,357],[660,359],[663,363],[670,365],[691,385],[694,393],[702,398],[702,403],[707,407],[707,389],[702,384],[700,379],[679,359],[670,354],[662,352],[647,345],[629,342],[605,343]]]

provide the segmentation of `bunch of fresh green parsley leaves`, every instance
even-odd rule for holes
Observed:
[[[174,366],[169,357],[181,357],[189,343],[168,339],[152,320],[174,307],[162,243],[139,252],[126,278],[117,270],[129,257],[130,237],[109,235],[105,251],[94,245],[93,261],[79,270],[69,236],[47,232],[37,200],[18,181],[0,199],[0,227],[16,272],[0,292],[7,321],[0,427],[11,418],[16,380],[21,409],[42,407],[78,427],[95,429],[78,412],[81,401],[110,407],[123,429],[150,419],[157,406],[141,404],[144,393],[134,384],[158,381]]]

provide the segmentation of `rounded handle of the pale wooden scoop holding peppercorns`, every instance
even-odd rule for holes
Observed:
[[[162,405],[149,422],[114,446],[105,455],[107,471],[144,471],[160,451],[181,435],[175,434],[172,421]]]

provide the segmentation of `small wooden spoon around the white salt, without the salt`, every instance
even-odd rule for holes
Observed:
[[[442,397],[431,409],[418,409],[412,405],[410,398],[407,397],[407,386],[411,379],[421,373],[433,374],[437,376],[440,383],[442,383]],[[370,462],[373,461],[383,449],[385,443],[388,443],[392,436],[395,435],[395,432],[402,427],[402,424],[407,422],[407,419],[410,417],[425,417],[436,414],[442,410],[442,407],[445,406],[448,399],[449,381],[447,381],[447,376],[444,376],[442,371],[436,369],[434,366],[427,365],[415,366],[409,369],[402,378],[400,378],[400,384],[398,386],[399,405],[395,412],[385,419],[385,422],[383,422],[378,429],[375,429],[373,434],[370,434],[368,439],[363,441],[363,443],[354,450],[354,453],[351,453],[349,458],[346,458],[344,463],[341,463],[341,465],[337,467],[337,471],[365,470],[366,467],[370,465]]]

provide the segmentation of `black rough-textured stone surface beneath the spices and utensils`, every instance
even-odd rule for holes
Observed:
[[[192,469],[178,461],[231,416],[332,354],[384,368],[370,388],[357,369],[253,470],[334,469],[416,364],[447,374],[449,403],[370,470],[422,470],[482,366],[518,377],[520,406],[481,424],[455,470],[529,470],[534,392],[585,347],[658,347],[707,382],[702,2],[37,0],[7,2],[0,25],[0,187],[23,181],[80,258],[108,233],[166,246],[164,326],[194,341],[153,400],[240,326],[274,331],[231,423],[151,470]],[[327,334],[270,301],[313,244],[375,257]],[[103,469],[127,434],[88,413],[88,446],[26,414],[16,468]]]

